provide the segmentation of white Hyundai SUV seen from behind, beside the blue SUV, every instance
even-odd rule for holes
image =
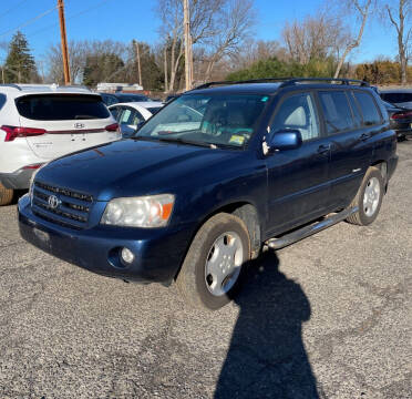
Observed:
[[[45,162],[120,139],[100,94],[85,88],[0,84],[0,205]]]

